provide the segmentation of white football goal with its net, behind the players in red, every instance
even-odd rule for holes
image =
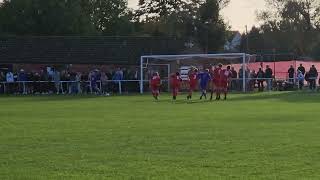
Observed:
[[[149,92],[149,80],[154,72],[158,72],[162,79],[161,91],[170,90],[170,75],[179,72],[183,80],[183,91],[188,88],[188,73],[193,67],[199,72],[207,69],[212,72],[218,64],[222,64],[223,68],[232,68],[233,77],[229,89],[246,92],[250,83],[250,64],[254,61],[255,56],[244,53],[141,56],[140,93]],[[211,85],[208,88],[210,87]]]

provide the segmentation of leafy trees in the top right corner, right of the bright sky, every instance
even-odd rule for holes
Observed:
[[[300,56],[314,56],[319,44],[320,2],[318,0],[266,0],[267,11],[260,12],[260,34],[250,33],[263,39],[264,49],[252,44],[253,52],[276,49],[294,52]],[[250,41],[251,42],[251,41]],[[251,43],[250,43],[251,44]],[[320,55],[320,54],[319,54]],[[318,56],[319,56],[318,55]]]

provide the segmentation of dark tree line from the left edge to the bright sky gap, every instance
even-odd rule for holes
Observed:
[[[220,11],[229,0],[4,0],[0,32],[19,36],[165,36],[223,47],[228,29]]]

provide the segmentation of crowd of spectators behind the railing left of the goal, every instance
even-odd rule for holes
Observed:
[[[137,90],[138,71],[116,68],[108,71],[76,72],[55,68],[39,72],[20,69],[0,71],[0,93],[7,94],[110,94]],[[122,82],[122,80],[132,80]]]

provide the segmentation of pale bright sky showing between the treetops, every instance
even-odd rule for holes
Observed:
[[[138,0],[128,0],[129,7],[136,8]],[[256,21],[256,11],[265,8],[264,0],[231,0],[228,7],[223,9],[222,15],[226,22],[231,25],[232,30],[243,32],[247,25],[258,26]]]

